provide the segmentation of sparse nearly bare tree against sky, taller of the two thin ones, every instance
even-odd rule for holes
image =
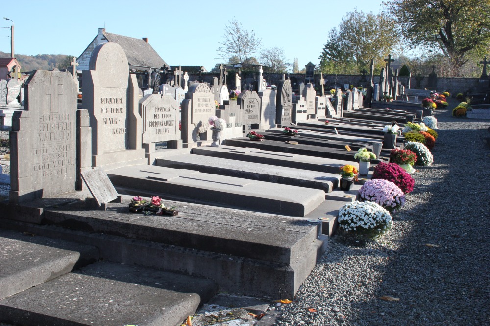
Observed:
[[[232,19],[225,26],[222,39],[217,50],[221,57],[225,60],[237,57],[239,62],[245,65],[250,64],[250,57],[259,51],[262,42],[253,30],[246,30],[236,19]]]

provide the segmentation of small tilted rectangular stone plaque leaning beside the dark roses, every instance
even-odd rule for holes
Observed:
[[[111,202],[118,197],[116,188],[114,188],[111,180],[109,180],[109,177],[102,168],[98,167],[84,171],[82,172],[82,178],[99,206]]]

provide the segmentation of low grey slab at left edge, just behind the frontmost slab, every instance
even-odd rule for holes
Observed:
[[[0,299],[97,259],[94,246],[0,229]]]

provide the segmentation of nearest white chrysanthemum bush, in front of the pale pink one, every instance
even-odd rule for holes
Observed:
[[[372,201],[350,202],[339,210],[339,225],[347,233],[376,239],[393,226],[390,212]]]

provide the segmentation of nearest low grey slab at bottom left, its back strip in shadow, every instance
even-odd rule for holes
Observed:
[[[96,262],[0,301],[19,325],[180,325],[216,284],[154,269]]]

